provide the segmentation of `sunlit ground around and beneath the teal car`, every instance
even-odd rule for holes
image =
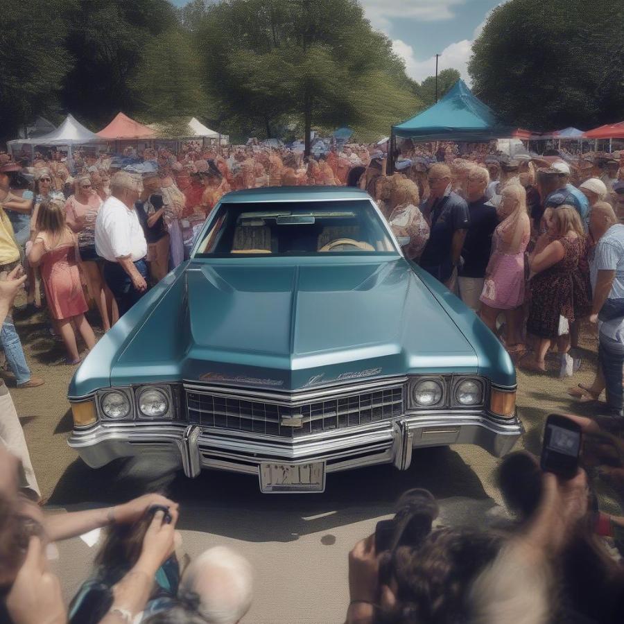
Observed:
[[[394,503],[410,487],[426,487],[440,503],[440,523],[484,526],[505,514],[495,483],[499,460],[476,447],[422,449],[407,471],[370,467],[327,475],[324,494],[260,494],[252,476],[205,471],[189,480],[149,455],[89,469],[69,447],[71,413],[67,384],[75,367],[64,365],[62,345],[49,333],[44,313],[15,314],[40,388],[11,389],[24,426],[42,494],[51,513],[119,503],[159,491],[180,502],[178,528],[189,555],[227,544],[252,562],[256,591],[244,619],[254,624],[340,623],[348,604],[347,555],[377,521],[392,516]],[[566,395],[576,383],[591,383],[596,339],[582,333],[585,360],[573,379],[519,372],[518,407],[526,434],[517,448],[538,453],[546,415],[587,413]],[[11,387],[12,379],[4,374]],[[618,507],[608,487],[596,485],[607,511]],[[69,599],[91,570],[97,546],[83,539],[58,545],[54,567]]]

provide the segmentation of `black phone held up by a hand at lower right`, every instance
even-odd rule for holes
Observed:
[[[560,414],[546,419],[544,445],[541,447],[541,469],[571,479],[578,472],[582,432],[578,424]]]

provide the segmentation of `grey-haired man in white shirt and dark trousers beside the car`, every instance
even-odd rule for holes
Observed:
[[[135,211],[142,190],[140,175],[118,171],[110,180],[111,196],[96,219],[96,251],[106,261],[104,280],[120,316],[147,291],[147,242]]]

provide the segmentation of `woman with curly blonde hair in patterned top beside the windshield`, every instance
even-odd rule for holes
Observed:
[[[408,237],[404,245],[406,257],[418,261],[429,239],[429,225],[418,205],[418,187],[411,180],[392,180],[388,223],[395,236]]]

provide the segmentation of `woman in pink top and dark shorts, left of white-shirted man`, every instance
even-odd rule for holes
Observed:
[[[74,234],[78,234],[80,268],[87,278],[89,294],[98,306],[102,327],[108,331],[119,318],[119,312],[101,275],[98,266],[100,258],[95,249],[95,222],[102,203],[101,197],[93,191],[91,177],[79,175],[74,194],[65,202],[65,222]]]

